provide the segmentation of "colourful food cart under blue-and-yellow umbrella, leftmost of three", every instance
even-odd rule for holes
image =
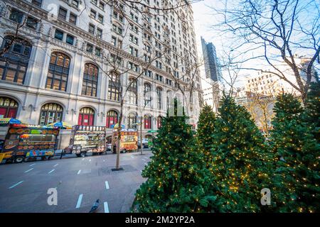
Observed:
[[[0,119],[0,151],[6,162],[23,162],[26,158],[50,159],[58,141],[59,129]]]

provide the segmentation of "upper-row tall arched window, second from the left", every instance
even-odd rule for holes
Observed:
[[[46,88],[66,91],[70,67],[70,57],[53,52],[50,57]]]

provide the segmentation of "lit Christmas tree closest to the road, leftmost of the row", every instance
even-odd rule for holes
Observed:
[[[134,211],[201,212],[210,211],[215,199],[207,193],[210,182],[206,163],[194,148],[195,139],[187,117],[167,114],[151,148],[151,162],[142,172],[148,177],[137,190]],[[179,114],[178,114],[179,115]]]

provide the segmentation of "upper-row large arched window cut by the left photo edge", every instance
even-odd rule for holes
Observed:
[[[0,57],[0,78],[2,80],[23,84],[31,53],[31,44],[21,38],[8,35],[4,38]]]

